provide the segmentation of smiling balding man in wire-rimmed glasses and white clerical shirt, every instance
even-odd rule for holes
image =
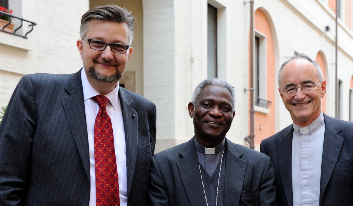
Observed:
[[[353,123],[321,111],[326,80],[306,54],[282,64],[279,92],[293,124],[261,142],[280,206],[353,205]]]

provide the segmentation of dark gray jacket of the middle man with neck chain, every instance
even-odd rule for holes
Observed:
[[[271,160],[226,139],[225,206],[277,205]],[[194,138],[152,157],[147,205],[204,206]]]

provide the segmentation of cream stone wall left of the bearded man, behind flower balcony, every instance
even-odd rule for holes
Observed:
[[[11,1],[11,0],[10,0]],[[28,39],[0,32],[0,106],[8,104],[18,81],[31,73],[73,73],[82,67],[76,41],[88,0],[26,0],[11,8],[37,23]],[[10,4],[11,5],[11,4]],[[18,24],[15,25],[15,28]],[[28,31],[24,23],[23,33]]]

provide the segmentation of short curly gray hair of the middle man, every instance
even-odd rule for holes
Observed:
[[[217,79],[217,78],[205,79],[204,81],[200,82],[196,86],[194,93],[192,94],[192,98],[191,98],[192,105],[195,105],[198,95],[200,94],[201,90],[207,84],[213,84],[213,85],[218,85],[218,86],[227,88],[229,90],[229,92],[231,92],[232,99],[233,99],[233,111],[235,110],[235,92],[234,92],[233,87],[228,82],[221,80],[221,79]]]

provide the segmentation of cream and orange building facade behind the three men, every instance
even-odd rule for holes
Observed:
[[[250,133],[250,4],[242,0],[8,0],[14,15],[36,22],[28,39],[0,32],[0,106],[29,73],[73,73],[80,18],[114,3],[136,17],[124,87],[157,106],[156,152],[193,136],[187,105],[205,78],[222,78],[237,94],[227,138],[248,145]],[[306,53],[327,81],[322,110],[335,117],[336,0],[255,0],[255,149],[292,123],[278,92],[285,56]],[[353,121],[353,4],[339,0],[338,118]],[[17,12],[17,13],[16,13]],[[16,28],[16,25],[15,25]],[[1,28],[0,28],[1,29]],[[25,30],[26,28],[23,28]],[[24,31],[23,31],[24,32]]]

